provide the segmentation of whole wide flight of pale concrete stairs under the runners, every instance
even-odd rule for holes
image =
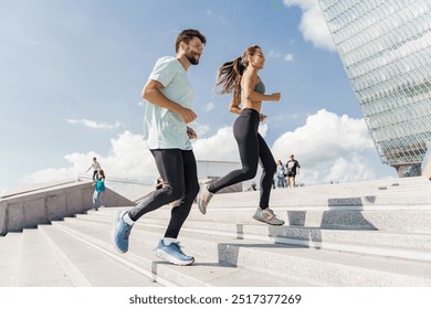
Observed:
[[[0,237],[0,286],[423,286],[431,287],[431,182],[424,178],[276,189],[286,221],[251,219],[259,192],[196,205],[181,234],[192,266],[159,260],[170,206],[147,214],[130,251],[111,245],[114,213],[88,211]]]

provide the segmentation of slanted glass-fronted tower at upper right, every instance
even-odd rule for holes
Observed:
[[[318,1],[382,162],[419,174],[431,140],[431,1]]]

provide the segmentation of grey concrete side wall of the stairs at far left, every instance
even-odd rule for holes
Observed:
[[[36,227],[92,209],[94,187],[91,182],[72,183],[55,189],[10,196],[0,200],[0,235]],[[134,203],[106,189],[103,205],[133,206]]]

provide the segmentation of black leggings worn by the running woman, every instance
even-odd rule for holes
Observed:
[[[254,178],[260,161],[263,170],[261,178],[261,201],[259,206],[264,210],[270,203],[270,193],[276,163],[266,142],[257,132],[260,117],[256,110],[244,108],[241,111],[241,115],[233,125],[233,136],[236,139],[238,148],[240,150],[242,169],[231,171],[229,174],[211,184],[208,190],[216,193],[225,187]]]

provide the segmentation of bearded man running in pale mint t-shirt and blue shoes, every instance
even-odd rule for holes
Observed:
[[[199,64],[206,42],[198,30],[188,29],[179,33],[175,43],[177,56],[159,58],[144,86],[143,98],[147,100],[144,140],[155,158],[164,184],[132,210],[115,214],[113,244],[120,253],[127,253],[132,227],[139,217],[179,200],[171,209],[165,237],[155,248],[155,254],[177,265],[195,262],[192,256],[181,251],[177,237],[199,192],[197,163],[190,142],[197,135],[187,126],[197,117],[190,109],[193,89],[187,70]]]

